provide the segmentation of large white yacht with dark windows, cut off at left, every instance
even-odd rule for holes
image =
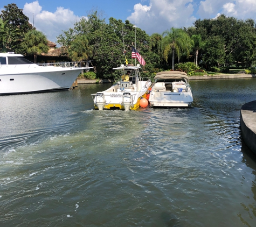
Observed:
[[[92,68],[71,62],[65,62],[65,66],[40,66],[21,54],[0,53],[0,95],[68,90],[82,69]]]

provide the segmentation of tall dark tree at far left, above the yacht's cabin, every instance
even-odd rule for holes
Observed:
[[[32,25],[29,23],[29,18],[26,17],[16,4],[8,4],[4,6],[0,18],[3,23],[1,24],[1,34],[3,34],[3,49],[12,50],[17,53],[20,52],[20,43],[27,31],[32,30]],[[1,38],[0,38],[1,39]]]

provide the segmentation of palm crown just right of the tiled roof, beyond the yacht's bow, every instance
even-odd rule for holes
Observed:
[[[88,60],[92,56],[92,48],[85,34],[75,37],[68,48],[68,54],[72,61]]]

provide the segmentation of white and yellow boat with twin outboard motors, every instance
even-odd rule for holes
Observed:
[[[141,98],[146,98],[149,94],[149,88],[151,87],[151,81],[144,80],[139,69],[141,66],[124,66],[113,68],[120,73],[120,80],[113,84],[105,91],[99,91],[96,94],[92,94],[94,101],[94,108],[98,110],[103,109],[120,109],[120,110],[136,110],[140,107]],[[122,79],[127,75],[130,75]]]

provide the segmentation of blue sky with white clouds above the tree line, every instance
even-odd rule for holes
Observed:
[[[219,13],[238,19],[256,20],[256,0],[1,0],[15,3],[37,30],[56,42],[82,16],[97,10],[108,23],[109,17],[129,20],[147,34],[162,34],[173,27],[189,27],[196,19],[215,18]]]

